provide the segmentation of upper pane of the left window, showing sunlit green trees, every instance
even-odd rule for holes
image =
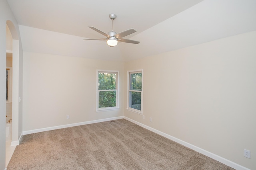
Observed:
[[[116,73],[98,73],[98,90],[115,90]]]

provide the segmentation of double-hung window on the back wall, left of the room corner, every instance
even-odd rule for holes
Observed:
[[[96,110],[118,108],[118,71],[97,70]]]

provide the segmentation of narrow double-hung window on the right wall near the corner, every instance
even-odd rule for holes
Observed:
[[[142,114],[143,70],[128,71],[127,109]]]

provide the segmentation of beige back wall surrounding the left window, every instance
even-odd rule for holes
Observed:
[[[123,62],[28,52],[23,56],[24,131],[123,116]],[[120,109],[96,112],[97,69],[119,70]]]

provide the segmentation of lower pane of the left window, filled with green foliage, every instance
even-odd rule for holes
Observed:
[[[116,107],[116,91],[99,92],[99,108]]]

